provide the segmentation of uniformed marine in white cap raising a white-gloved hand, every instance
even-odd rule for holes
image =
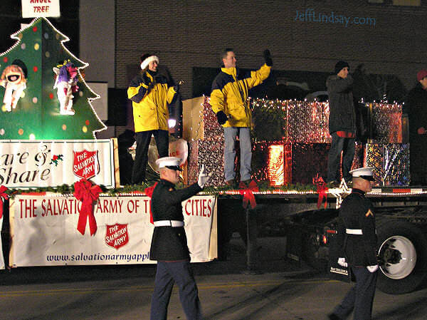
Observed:
[[[201,319],[201,306],[196,282],[190,268],[190,254],[184,229],[181,202],[201,191],[211,175],[201,167],[198,182],[175,190],[179,182],[179,158],[159,158],[160,182],[152,193],[154,232],[149,259],[157,260],[152,296],[151,320],[167,320],[167,306],[174,282],[179,299],[189,320]]]

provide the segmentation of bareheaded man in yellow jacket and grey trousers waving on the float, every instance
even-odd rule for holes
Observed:
[[[226,185],[234,185],[234,158],[236,137],[241,150],[241,182],[251,181],[251,123],[252,113],[248,103],[249,89],[258,86],[270,75],[273,60],[270,51],[263,53],[265,64],[258,71],[239,72],[233,49],[226,48],[222,55],[224,68],[212,83],[211,105],[218,123],[224,128],[224,176]]]

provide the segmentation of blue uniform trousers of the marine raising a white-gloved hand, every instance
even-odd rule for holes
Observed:
[[[201,305],[199,293],[189,261],[157,262],[152,295],[151,320],[167,320],[167,306],[174,282],[179,287],[179,300],[188,320],[199,320]]]

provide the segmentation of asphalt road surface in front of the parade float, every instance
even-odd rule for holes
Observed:
[[[344,296],[349,284],[322,277],[297,279],[281,273],[197,276],[206,319],[322,320]],[[89,282],[4,285],[0,318],[149,319],[153,279],[105,279]],[[373,319],[426,319],[427,289],[390,296],[376,292]],[[176,290],[168,319],[185,319]]]

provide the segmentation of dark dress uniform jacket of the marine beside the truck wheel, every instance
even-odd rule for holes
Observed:
[[[346,228],[362,229],[363,234],[346,234]],[[378,264],[374,210],[362,190],[353,189],[342,201],[337,231],[337,242],[342,244],[349,266],[367,267]]]

